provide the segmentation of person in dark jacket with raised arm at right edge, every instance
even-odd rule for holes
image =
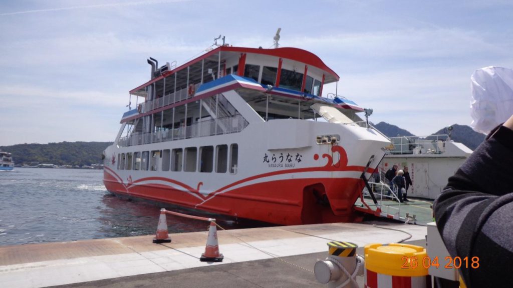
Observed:
[[[468,288],[513,283],[512,162],[513,116],[488,134],[433,204],[451,259],[468,260],[460,269]]]

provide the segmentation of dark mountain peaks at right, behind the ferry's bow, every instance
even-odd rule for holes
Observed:
[[[385,134],[387,137],[415,136],[407,130],[401,129],[386,122],[379,122],[378,124],[374,125],[374,127],[376,127],[376,129],[381,131],[381,133]],[[442,128],[431,135],[440,134],[448,134],[447,127]],[[473,131],[469,126],[458,124],[452,125],[451,139],[456,142],[463,143],[466,147],[472,150],[475,150],[481,144],[481,142],[484,141],[484,138],[484,134]]]

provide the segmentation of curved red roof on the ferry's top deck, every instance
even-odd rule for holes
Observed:
[[[182,70],[183,68],[187,67],[187,66],[190,66],[208,56],[211,56],[215,53],[218,53],[219,50],[221,51],[225,51],[225,52],[240,52],[240,53],[253,53],[253,54],[262,54],[262,55],[269,55],[269,56],[275,56],[275,57],[280,57],[280,58],[285,58],[285,59],[290,59],[290,60],[294,60],[294,61],[299,61],[301,63],[304,63],[308,66],[313,66],[313,67],[317,67],[325,72],[327,72],[328,74],[330,74],[333,78],[335,78],[336,80],[339,80],[339,75],[337,75],[337,73],[335,73],[333,70],[331,70],[326,64],[324,64],[324,62],[321,60],[321,58],[319,58],[317,55],[311,53],[311,52],[308,52],[306,50],[303,50],[303,49],[299,49],[299,48],[292,48],[292,47],[284,47],[284,48],[275,48],[275,49],[261,49],[261,48],[246,48],[246,47],[231,47],[231,46],[220,46],[218,48],[215,48],[213,49],[212,51],[209,51],[205,54],[203,54],[202,56],[198,57],[198,58],[195,58],[195,59],[192,59],[190,61],[188,61],[187,63],[179,66],[179,67],[176,67],[175,69],[171,70],[171,71],[166,71],[165,73],[163,73],[161,76],[159,77],[156,77],[150,81],[148,81],[147,83],[135,88],[135,89],[132,89],[130,90],[130,93],[133,93],[137,90],[140,90],[152,83],[155,83],[156,81],[164,78],[165,76],[169,75],[169,74],[173,74],[174,72],[176,71],[180,71]]]

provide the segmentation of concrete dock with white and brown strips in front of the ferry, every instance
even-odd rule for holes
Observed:
[[[218,229],[224,254],[219,263],[199,260],[207,235],[205,224],[205,232],[171,234],[172,242],[163,244],[152,243],[150,235],[0,246],[0,286],[325,287],[312,271],[315,261],[326,258],[328,241],[363,246],[411,235],[408,241],[421,240],[417,244],[423,245],[426,227],[332,223]]]

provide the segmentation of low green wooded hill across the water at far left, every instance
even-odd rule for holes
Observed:
[[[15,164],[31,162],[51,163],[55,165],[91,165],[102,164],[102,152],[112,142],[60,142],[48,144],[17,144],[0,146],[0,149],[12,154]]]

